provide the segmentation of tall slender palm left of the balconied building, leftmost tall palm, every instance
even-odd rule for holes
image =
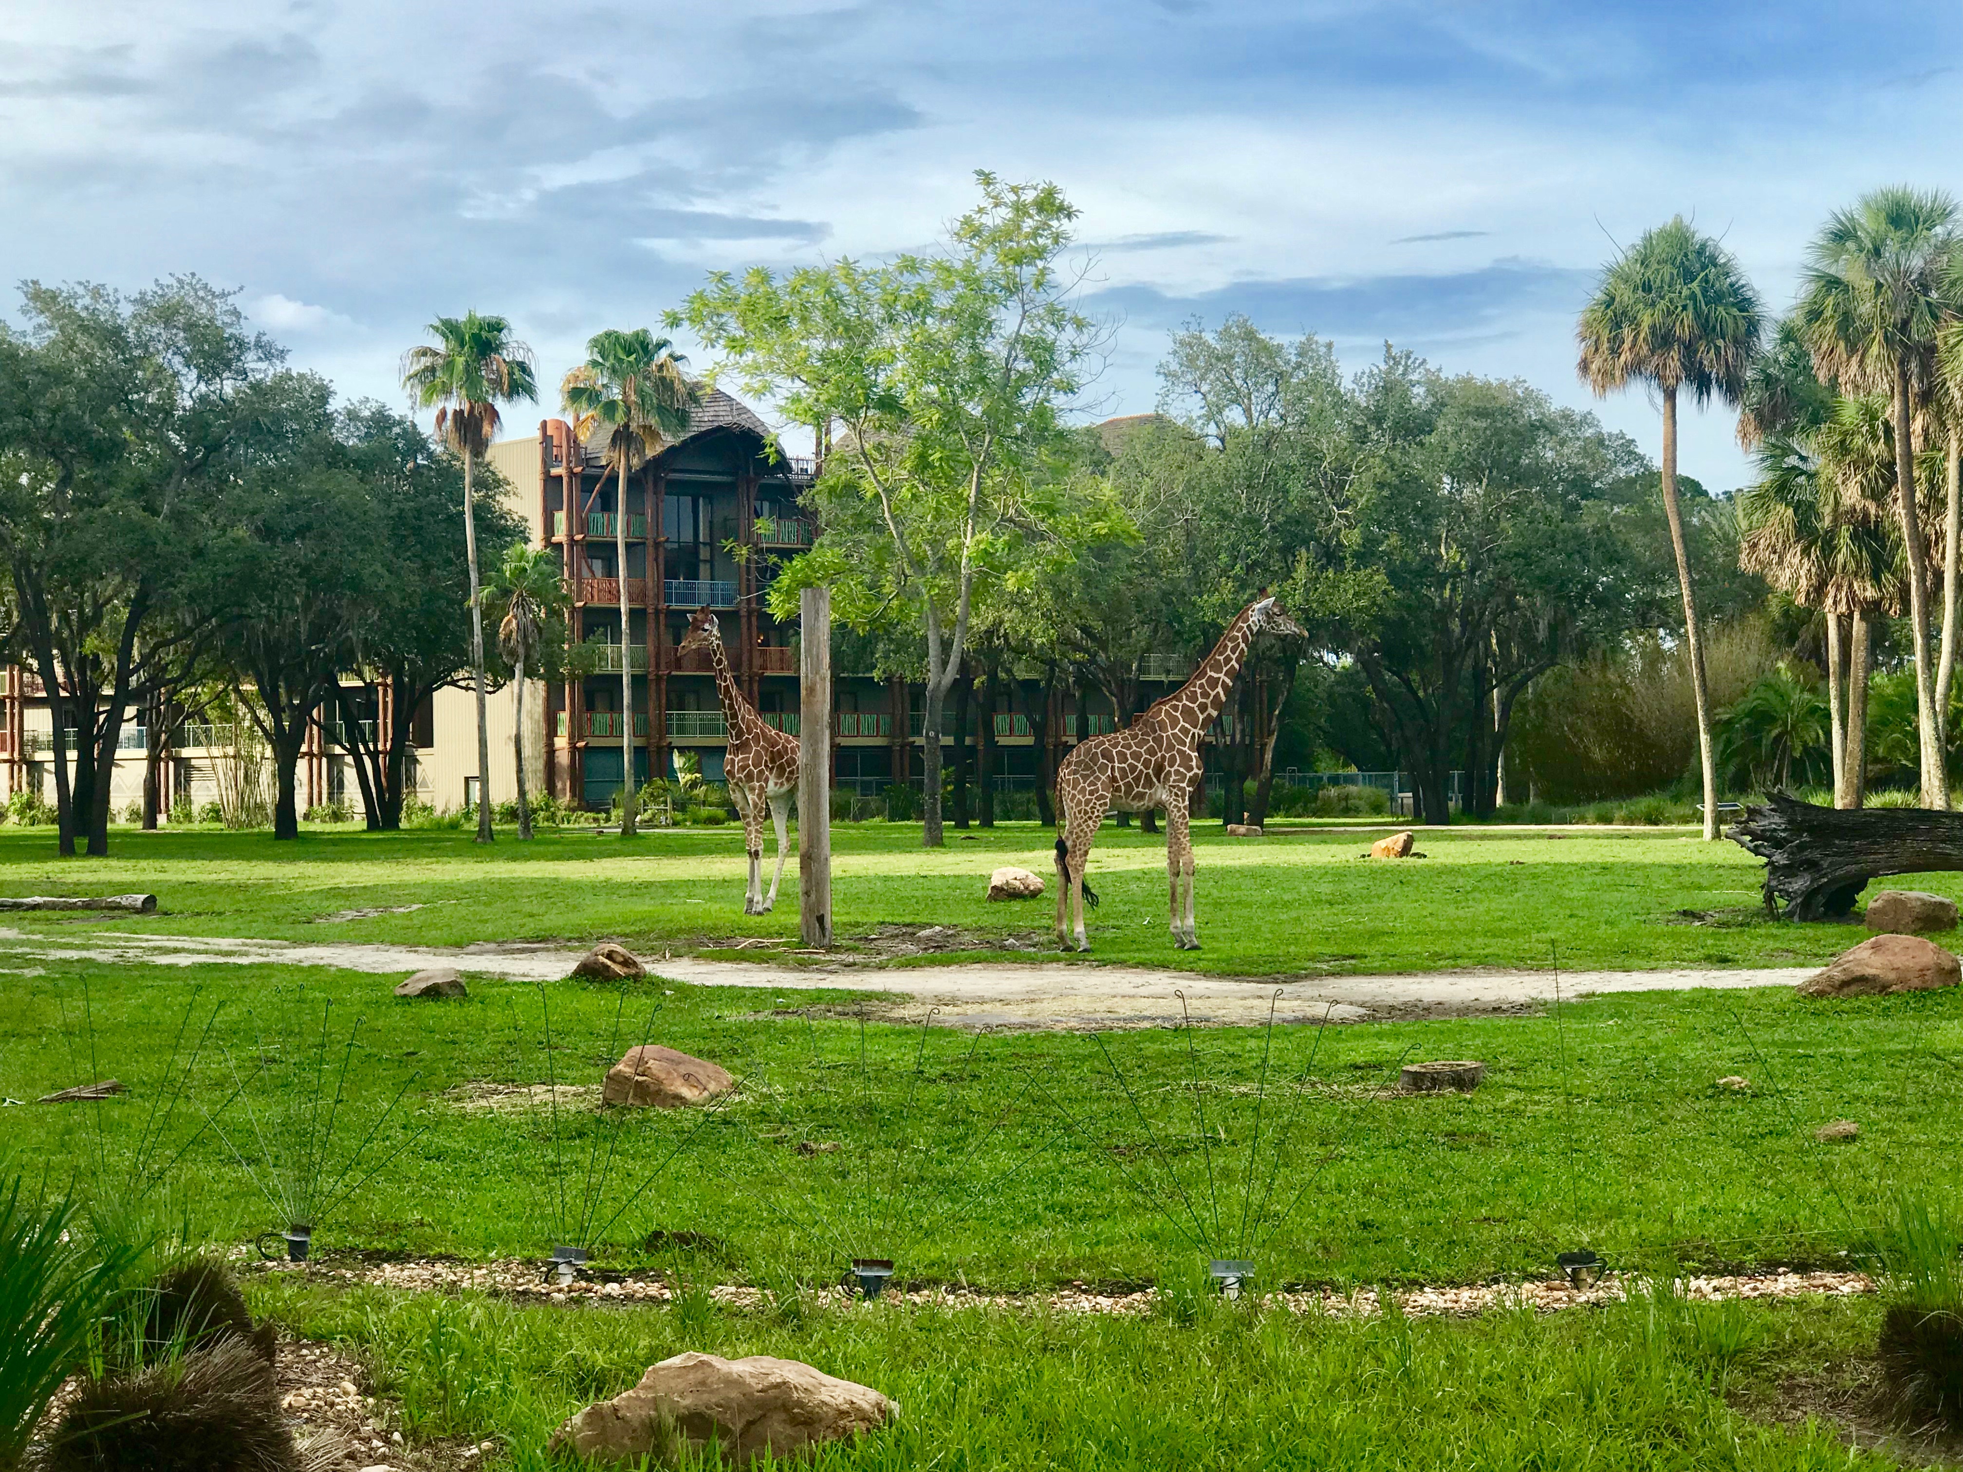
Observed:
[[[402,355],[402,387],[416,408],[436,410],[436,436],[463,457],[463,555],[471,571],[471,677],[477,685],[477,842],[491,842],[491,716],[485,710],[485,614],[477,587],[477,457],[503,420],[497,406],[538,398],[532,349],[510,336],[501,316],[440,316],[428,326],[434,343]]]

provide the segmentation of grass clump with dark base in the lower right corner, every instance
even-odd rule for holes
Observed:
[[[1963,1429],[1963,1223],[1947,1203],[1898,1195],[1873,1256],[1888,1395],[1916,1423]]]

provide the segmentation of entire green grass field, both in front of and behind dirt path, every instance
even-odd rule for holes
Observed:
[[[980,893],[997,864],[1042,871],[1046,834],[976,838],[921,854],[907,830],[842,828],[842,934],[1044,928],[1046,907],[1005,917]],[[45,834],[0,830],[0,893],[149,889],[159,915],[6,924],[75,948],[102,930],[648,946],[795,928],[793,903],[740,915],[730,832],[489,852],[448,832],[116,842],[110,860],[57,862]],[[1563,966],[1653,968],[1814,962],[1853,938],[1759,919],[1749,856],[1676,830],[1427,832],[1431,858],[1396,866],[1358,862],[1362,846],[1205,834],[1209,948],[1190,958],[1164,932],[1154,840],[1107,832],[1099,958],[1388,972],[1539,966],[1557,940]],[[426,909],[318,922],[391,905]],[[130,1085],[0,1107],[0,1148],[31,1180],[241,1244],[285,1225],[277,1183],[306,1178],[312,1150],[322,1180],[351,1183],[314,1223],[330,1256],[538,1260],[571,1240],[689,1289],[605,1309],[253,1280],[261,1311],[365,1358],[412,1441],[489,1437],[493,1466],[528,1472],[563,1415],[681,1348],[789,1354],[903,1403],[897,1429],[821,1466],[1881,1466],[1828,1427],[1767,1423],[1788,1384],[1865,1362],[1871,1301],[1351,1323],[1231,1307],[1195,1282],[1207,1256],[1290,1286],[1543,1278],[1572,1246],[1663,1274],[1847,1266],[1898,1191],[1951,1193],[1963,1130],[1955,993],[1643,993],[1533,1017],[1091,1038],[923,1032],[854,1019],[848,991],[658,977],[471,977],[467,1001],[408,1003],[393,977],[324,968],[18,948],[0,968],[0,1097]],[[516,1107],[514,1089],[548,1079],[591,1089],[640,1040],[720,1062],[740,1089],[713,1111]],[[1480,1058],[1488,1078],[1472,1095],[1392,1093],[1415,1058]],[[1859,1138],[1816,1142],[1831,1119]],[[145,1176],[161,1183],[132,1189]],[[809,1289],[850,1256],[893,1256],[911,1284],[1152,1284],[1160,1309],[824,1307]],[[766,1288],[775,1307],[720,1309],[709,1284]]]

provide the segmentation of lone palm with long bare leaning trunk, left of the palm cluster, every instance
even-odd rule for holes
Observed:
[[[1718,762],[1684,514],[1676,502],[1676,394],[1688,393],[1698,404],[1714,396],[1737,404],[1763,324],[1759,294],[1731,253],[1676,216],[1604,267],[1576,326],[1580,375],[1596,394],[1645,383],[1663,398],[1663,512],[1671,522],[1676,583],[1684,595],[1706,840],[1718,838]]]

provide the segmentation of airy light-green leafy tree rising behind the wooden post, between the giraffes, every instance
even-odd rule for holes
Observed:
[[[982,202],[930,255],[716,275],[675,316],[799,424],[842,426],[817,487],[824,536],[775,581],[771,606],[828,581],[848,620],[917,610],[928,848],[944,842],[942,710],[978,591],[1003,587],[1029,548],[1068,555],[1070,483],[1040,467],[1101,342],[1072,300],[1078,212],[1062,190],[976,181]]]

